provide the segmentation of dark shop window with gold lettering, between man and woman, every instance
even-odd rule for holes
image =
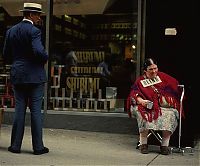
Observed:
[[[3,7],[0,16],[2,45],[6,29],[22,17],[9,15]],[[137,1],[112,1],[100,14],[54,14],[50,26],[47,109],[124,112],[136,72]],[[1,74],[7,69],[3,67]],[[5,78],[0,78],[5,84]],[[1,96],[4,92],[1,87]]]

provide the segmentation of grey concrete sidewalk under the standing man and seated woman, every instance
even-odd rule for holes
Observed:
[[[112,134],[64,129],[44,129],[44,143],[48,154],[33,155],[30,127],[26,127],[22,152],[7,151],[10,145],[10,125],[2,125],[0,136],[0,165],[200,165],[200,147],[159,154],[159,146],[151,145],[150,153],[141,154],[136,145],[137,135]]]

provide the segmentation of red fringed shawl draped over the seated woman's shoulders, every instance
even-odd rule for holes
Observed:
[[[180,112],[180,97],[181,89],[179,88],[179,82],[171,77],[170,75],[158,72],[160,77],[160,83],[154,84],[153,86],[158,90],[160,96],[164,96],[170,107],[177,109]],[[141,96],[145,100],[150,100],[153,102],[153,108],[147,109],[142,105],[138,105],[138,111],[141,113],[142,117],[147,121],[152,121],[161,116],[161,108],[159,102],[162,102],[162,98],[158,97],[158,93],[154,91],[151,86],[143,87],[141,80],[145,79],[144,76],[140,76],[131,87],[131,91],[127,98],[127,111],[129,117],[131,117],[130,107],[131,105],[136,105],[137,96]],[[147,115],[147,116],[146,116]],[[182,112],[184,117],[184,113]]]

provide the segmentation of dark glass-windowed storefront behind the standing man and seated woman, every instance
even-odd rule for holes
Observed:
[[[6,29],[22,19],[18,11],[23,2],[0,0],[0,57]],[[153,56],[159,61],[159,70],[176,76],[185,85],[187,118],[183,140],[193,143],[193,135],[199,135],[195,124],[198,111],[193,104],[197,88],[194,89],[188,76],[196,71],[197,65],[188,65],[193,63],[192,56],[198,48],[197,42],[191,42],[199,33],[195,0],[181,2],[181,5],[173,0],[37,2],[41,2],[45,10],[41,28],[50,55],[44,97],[47,127],[54,123],[56,128],[93,127],[97,131],[97,125],[102,129],[103,124],[104,131],[114,132],[120,128],[122,132],[132,133],[131,127],[137,125],[132,121],[127,123],[124,103],[131,82],[142,71],[144,57]],[[165,35],[166,28],[175,28],[177,35]],[[109,64],[109,76],[102,75],[105,64],[101,62],[105,60]],[[2,59],[0,62],[0,102],[14,107],[8,84],[9,66],[3,65]],[[52,117],[52,113],[61,114],[59,120],[57,116]],[[89,113],[93,117],[85,116]],[[112,119],[110,113],[119,113],[120,117]],[[82,123],[77,115],[84,116]]]

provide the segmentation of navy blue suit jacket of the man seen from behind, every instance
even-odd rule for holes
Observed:
[[[6,32],[3,59],[12,64],[12,84],[47,81],[44,65],[48,55],[42,45],[40,29],[31,22],[21,21]]]

